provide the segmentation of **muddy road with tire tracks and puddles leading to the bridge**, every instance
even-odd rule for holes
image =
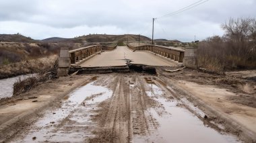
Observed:
[[[146,73],[90,75],[5,141],[242,142],[170,79]]]

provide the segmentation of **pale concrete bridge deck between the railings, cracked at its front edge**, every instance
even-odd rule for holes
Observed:
[[[113,51],[105,51],[101,54],[90,58],[86,62],[80,64],[82,67],[96,66],[124,66],[126,60],[132,60],[133,64],[145,64],[149,66],[176,66],[168,59],[161,58],[151,52],[135,51],[133,52],[126,46],[118,46]]]

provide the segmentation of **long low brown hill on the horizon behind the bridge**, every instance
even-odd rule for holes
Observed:
[[[127,38],[130,42],[138,41],[150,41],[151,39],[146,36],[138,36],[133,34],[125,35],[106,35],[106,34],[90,34],[87,36],[79,36],[77,38],[47,38],[41,40],[42,42],[73,42],[73,43],[102,43],[102,42],[126,42]]]

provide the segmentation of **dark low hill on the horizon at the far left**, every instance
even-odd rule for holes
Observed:
[[[39,41],[21,34],[0,34],[0,42],[36,43]]]

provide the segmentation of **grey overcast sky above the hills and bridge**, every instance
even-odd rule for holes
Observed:
[[[151,38],[152,17],[199,0],[0,0],[0,34],[34,39],[87,34],[141,34]],[[191,42],[220,35],[230,17],[256,17],[256,0],[209,0],[156,20],[154,38]]]

